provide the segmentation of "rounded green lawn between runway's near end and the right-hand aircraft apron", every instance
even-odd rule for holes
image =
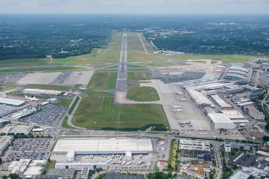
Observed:
[[[160,100],[158,92],[152,87],[139,87],[128,90],[127,97],[135,101],[157,101]]]

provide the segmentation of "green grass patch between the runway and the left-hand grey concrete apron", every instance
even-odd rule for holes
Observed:
[[[117,73],[94,73],[88,88],[89,89],[113,89],[116,87]]]

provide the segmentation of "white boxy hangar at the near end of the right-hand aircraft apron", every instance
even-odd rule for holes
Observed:
[[[209,113],[207,114],[207,120],[214,129],[234,129],[236,127],[234,122],[223,113]]]

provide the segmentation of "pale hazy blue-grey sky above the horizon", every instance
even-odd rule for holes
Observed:
[[[0,0],[0,13],[269,14],[269,0]]]

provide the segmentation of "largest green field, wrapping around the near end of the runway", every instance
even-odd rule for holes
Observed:
[[[80,127],[101,129],[103,127],[134,128],[146,124],[168,122],[159,104],[134,104],[133,107],[113,106],[114,95],[105,92],[87,91],[74,115],[72,122]],[[120,121],[120,122],[119,122]]]

